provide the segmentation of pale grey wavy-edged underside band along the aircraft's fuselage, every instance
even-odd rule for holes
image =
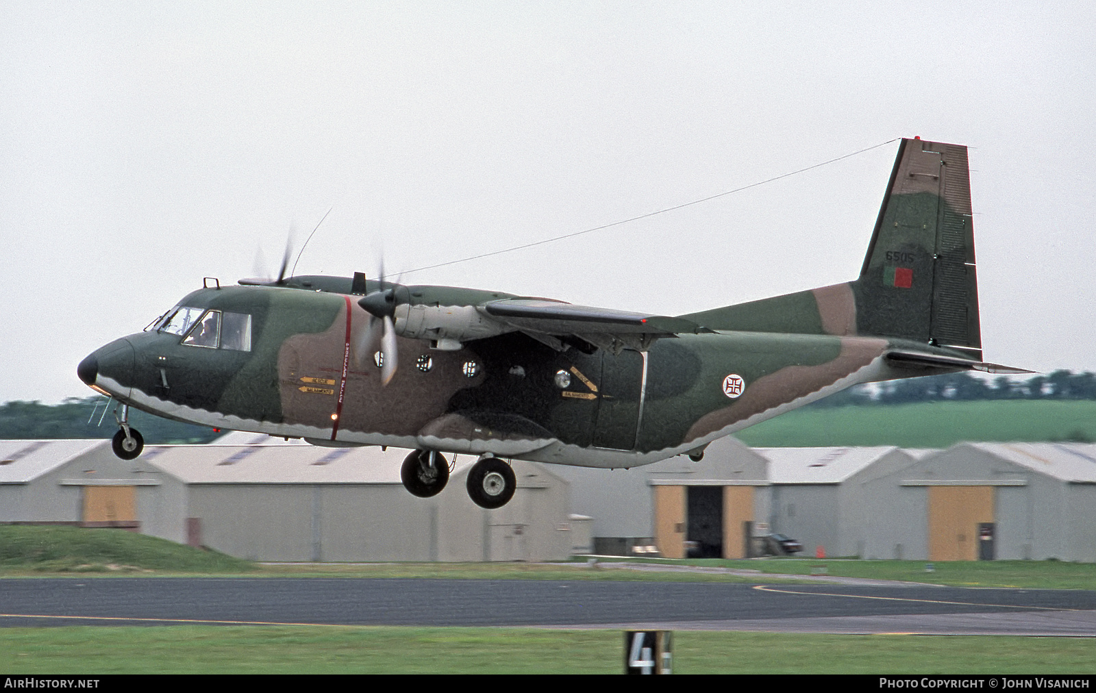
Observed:
[[[340,429],[333,434],[333,428],[321,428],[301,424],[274,423],[271,421],[258,421],[255,419],[244,419],[241,417],[222,414],[205,409],[194,409],[184,405],[165,401],[150,395],[146,395],[139,389],[123,386],[113,378],[100,375],[95,385],[110,393],[118,401],[130,405],[153,413],[168,417],[187,423],[208,425],[213,429],[225,429],[229,431],[249,431],[255,433],[266,433],[277,438],[300,438],[313,445],[322,446],[355,446],[355,445],[384,445],[391,447],[406,447],[409,450],[423,448],[436,450],[444,453],[472,454],[472,455],[495,455],[499,457],[510,457],[514,459],[528,459],[532,462],[544,462],[548,464],[571,465],[576,467],[602,467],[602,468],[628,468],[653,464],[675,455],[682,455],[703,448],[715,440],[724,438],[742,429],[749,428],[762,421],[778,417],[781,413],[798,409],[803,405],[809,405],[824,397],[838,393],[843,389],[875,380],[884,380],[895,377],[893,371],[887,365],[882,356],[874,359],[870,363],[854,371],[840,380],[827,385],[819,390],[804,395],[783,405],[766,409],[741,421],[712,431],[703,438],[698,438],[675,447],[665,447],[650,452],[613,450],[608,447],[583,447],[563,443],[556,439],[541,440],[465,440],[465,439],[443,439],[437,436],[419,435],[390,435],[385,433],[363,433],[359,431],[347,431]]]

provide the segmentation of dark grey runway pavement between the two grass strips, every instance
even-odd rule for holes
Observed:
[[[1096,637],[1096,591],[610,580],[0,580],[0,626],[179,623]]]

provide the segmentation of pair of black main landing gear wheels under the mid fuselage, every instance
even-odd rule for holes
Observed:
[[[121,431],[118,434],[121,435]],[[114,450],[117,452],[117,445]],[[121,453],[118,456],[122,456]],[[403,480],[403,488],[411,495],[431,498],[441,493],[449,481],[449,463],[436,451],[415,450],[403,459],[400,478]],[[472,502],[480,508],[494,510],[502,508],[514,497],[517,477],[513,468],[502,459],[482,457],[468,470],[467,486]]]

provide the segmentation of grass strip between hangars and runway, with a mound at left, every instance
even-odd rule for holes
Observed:
[[[629,559],[662,566],[699,566],[750,571],[663,572],[614,569],[601,558],[558,564],[293,564],[259,565],[217,552],[201,550],[122,530],[81,530],[67,526],[0,525],[0,576],[164,576],[239,575],[248,577],[450,578],[479,580],[628,580],[767,582],[774,575],[809,576],[822,567],[835,577],[904,580],[955,587],[1014,587],[1027,589],[1096,589],[1096,564],[1054,560],[925,561],[775,558],[723,560]]]

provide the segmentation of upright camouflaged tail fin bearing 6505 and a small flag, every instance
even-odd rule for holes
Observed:
[[[981,361],[967,147],[903,139],[860,277],[856,331]]]

